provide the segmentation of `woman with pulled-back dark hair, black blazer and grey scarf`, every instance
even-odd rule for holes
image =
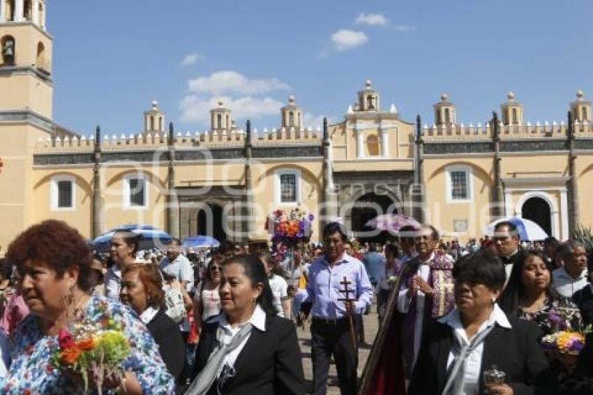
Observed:
[[[304,394],[296,329],[278,317],[260,260],[228,258],[218,292],[222,313],[202,329],[186,394]]]

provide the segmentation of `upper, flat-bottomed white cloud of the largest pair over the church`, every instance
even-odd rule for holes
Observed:
[[[278,78],[250,79],[233,70],[216,71],[208,77],[198,77],[188,82],[189,91],[195,94],[220,95],[224,93],[257,95],[270,91],[287,90],[290,85]]]

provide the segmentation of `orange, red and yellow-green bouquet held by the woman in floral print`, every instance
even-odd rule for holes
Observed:
[[[82,376],[84,392],[89,392],[89,374],[102,394],[106,378],[123,379],[119,365],[128,357],[130,345],[123,328],[113,318],[91,322],[84,320],[73,325],[70,333],[60,329],[59,350],[52,356],[52,364]]]

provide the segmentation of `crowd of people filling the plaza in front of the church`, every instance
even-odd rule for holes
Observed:
[[[430,225],[361,244],[329,223],[322,243],[286,255],[227,241],[140,245],[118,231],[108,251],[91,251],[61,221],[10,244],[0,258],[0,393],[78,394],[90,382],[102,394],[325,394],[332,363],[342,394],[593,392],[593,335],[578,358],[541,346],[593,324],[593,260],[576,240],[526,243],[502,222],[463,245]],[[371,340],[363,315],[375,305],[384,336],[360,387],[359,348]],[[129,346],[105,379],[56,359],[63,334],[88,322],[115,325]],[[306,322],[310,385],[296,335]],[[486,382],[492,370],[504,379]]]

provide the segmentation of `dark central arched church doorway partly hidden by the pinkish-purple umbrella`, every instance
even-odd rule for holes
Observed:
[[[376,193],[362,195],[352,207],[352,232],[354,232],[354,237],[372,243],[386,241],[389,238],[387,232],[377,232],[374,228],[366,226],[366,223],[376,216],[397,214],[397,212],[393,200],[387,195],[377,195]]]

